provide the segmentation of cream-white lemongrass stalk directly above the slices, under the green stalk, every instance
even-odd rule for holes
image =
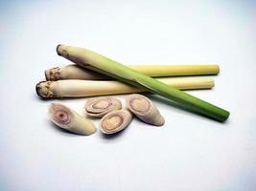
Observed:
[[[210,77],[176,77],[161,78],[160,81],[180,90],[210,89],[214,80]],[[146,92],[143,87],[135,87],[120,81],[66,79],[42,81],[36,85],[38,96],[49,97],[82,97],[121,95]]]

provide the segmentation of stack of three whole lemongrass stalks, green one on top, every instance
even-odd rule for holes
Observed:
[[[45,71],[47,81],[36,85],[38,96],[44,98],[104,96],[148,91],[175,101],[184,108],[205,117],[221,122],[229,117],[228,111],[180,91],[210,89],[214,86],[212,78],[171,77],[219,74],[218,65],[126,66],[99,53],[65,45],[58,45],[57,53],[76,65]]]

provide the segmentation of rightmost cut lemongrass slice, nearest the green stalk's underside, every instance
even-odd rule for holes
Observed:
[[[161,116],[158,109],[152,104],[151,100],[142,95],[133,94],[127,98],[128,110],[139,117],[142,121],[161,126],[165,123],[164,117]]]

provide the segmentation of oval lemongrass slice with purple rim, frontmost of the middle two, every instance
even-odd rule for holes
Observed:
[[[105,134],[114,134],[128,127],[132,119],[127,110],[116,110],[109,112],[101,119],[101,130]]]

